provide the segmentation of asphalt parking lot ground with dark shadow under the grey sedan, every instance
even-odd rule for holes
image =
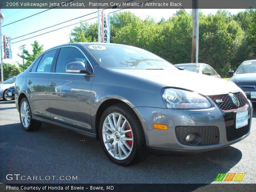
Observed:
[[[255,109],[255,107],[254,107]],[[218,173],[246,173],[256,183],[256,112],[251,134],[232,146],[193,156],[153,156],[133,166],[118,166],[100,142],[64,128],[43,124],[36,132],[20,125],[14,101],[0,100],[1,183],[212,183]],[[77,176],[77,180],[6,180],[6,174]]]

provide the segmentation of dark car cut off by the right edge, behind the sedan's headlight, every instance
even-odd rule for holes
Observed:
[[[228,71],[230,81],[239,86],[251,102],[256,102],[256,60],[242,62],[236,72]]]

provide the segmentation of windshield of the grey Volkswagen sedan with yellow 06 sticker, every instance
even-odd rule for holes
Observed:
[[[85,46],[105,67],[178,70],[178,68],[166,60],[140,48],[101,44]]]

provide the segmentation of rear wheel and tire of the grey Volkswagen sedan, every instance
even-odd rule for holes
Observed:
[[[31,108],[27,98],[22,98],[20,101],[20,123],[24,130],[33,131],[38,130],[42,123],[32,119]]]

